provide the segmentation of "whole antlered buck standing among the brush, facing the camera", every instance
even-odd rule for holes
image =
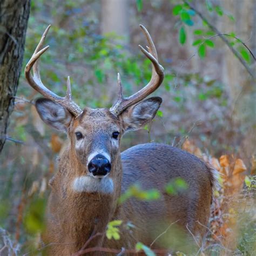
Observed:
[[[158,63],[149,32],[142,25],[140,28],[149,44],[146,49],[141,45],[139,48],[151,60],[151,80],[125,98],[118,74],[118,98],[110,109],[80,109],[72,100],[69,77],[65,97],[44,86],[38,62],[49,48],[41,49],[50,25],[26,65],[28,83],[44,97],[36,100],[39,116],[68,136],[58,171],[49,182],[51,194],[44,234],[49,255],[71,255],[89,239],[90,247],[132,249],[140,241],[151,248],[169,248],[177,233],[170,237],[163,232],[174,222],[186,237],[193,234],[197,242],[205,233],[214,185],[211,167],[192,154],[165,144],[147,143],[120,153],[122,136],[150,123],[162,102],[159,97],[145,99],[163,82],[164,69]],[[187,189],[182,193],[166,193],[166,184],[175,178],[183,179]],[[120,195],[134,183],[140,184],[143,190],[157,188],[160,199],[130,198],[119,204]],[[131,223],[133,228],[120,230],[119,240],[107,239],[106,226],[112,220]],[[98,233],[102,235],[96,236]],[[160,233],[163,234],[152,244]],[[185,247],[179,246],[179,250]]]

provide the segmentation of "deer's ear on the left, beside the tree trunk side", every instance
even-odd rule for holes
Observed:
[[[46,124],[59,131],[66,132],[73,117],[64,106],[46,98],[36,100],[36,109]]]

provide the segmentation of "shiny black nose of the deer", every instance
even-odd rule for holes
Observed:
[[[93,176],[104,176],[110,172],[111,164],[109,160],[102,156],[102,154],[97,154],[97,156],[93,157],[88,164],[88,170],[93,174]]]

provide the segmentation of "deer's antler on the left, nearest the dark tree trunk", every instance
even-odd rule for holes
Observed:
[[[36,47],[35,52],[33,53],[28,64],[26,64],[25,77],[26,77],[26,80],[28,80],[28,83],[33,87],[33,89],[41,93],[45,98],[51,99],[53,100],[53,102],[59,103],[60,105],[66,107],[67,110],[69,110],[75,117],[77,117],[82,112],[82,110],[72,100],[70,78],[68,77],[68,80],[67,80],[66,96],[59,97],[58,95],[56,95],[55,93],[53,93],[52,91],[50,91],[44,86],[40,77],[39,58],[43,55],[45,51],[48,50],[49,45],[43,48],[42,50],[40,50],[40,48],[44,43],[44,39],[50,29],[50,26],[51,25],[49,25],[45,29],[43,36],[41,37],[41,40]],[[33,69],[33,75],[30,72],[31,68]]]

